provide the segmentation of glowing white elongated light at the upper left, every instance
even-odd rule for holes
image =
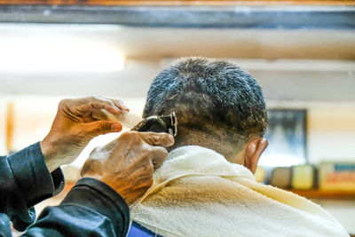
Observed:
[[[117,71],[118,49],[75,37],[2,37],[0,71]]]

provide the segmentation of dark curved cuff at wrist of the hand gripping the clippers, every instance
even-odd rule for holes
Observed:
[[[114,189],[95,178],[81,178],[61,204],[77,204],[96,210],[111,220],[117,236],[126,236],[130,226],[130,208]],[[60,204],[60,205],[61,205]]]

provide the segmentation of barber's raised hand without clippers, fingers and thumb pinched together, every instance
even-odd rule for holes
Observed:
[[[129,110],[121,100],[101,96],[60,101],[51,130],[41,142],[48,170],[74,162],[92,138],[122,130],[119,122],[97,121],[92,117],[94,111],[99,113],[103,108],[114,115],[120,114],[121,110]]]

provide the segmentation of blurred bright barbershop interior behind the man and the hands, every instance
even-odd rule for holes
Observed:
[[[0,154],[43,139],[63,98],[118,97],[140,116],[154,75],[186,56],[256,77],[270,118],[257,180],[355,233],[354,1],[0,0]],[[63,168],[66,189],[92,148],[119,135]]]

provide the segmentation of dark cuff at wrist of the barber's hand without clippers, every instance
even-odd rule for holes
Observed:
[[[39,142],[12,154],[8,161],[28,208],[63,190],[63,173],[60,168],[49,172]]]

